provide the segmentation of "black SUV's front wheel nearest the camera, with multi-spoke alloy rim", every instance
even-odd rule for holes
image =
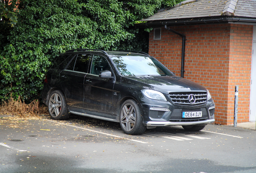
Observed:
[[[138,103],[127,100],[120,111],[120,126],[128,135],[139,135],[146,131],[147,127],[142,123],[142,115]]]

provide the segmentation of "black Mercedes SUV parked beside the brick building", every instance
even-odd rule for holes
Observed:
[[[207,89],[138,51],[68,50],[48,70],[42,99],[52,119],[119,122],[130,135],[169,125],[200,131],[215,121]]]

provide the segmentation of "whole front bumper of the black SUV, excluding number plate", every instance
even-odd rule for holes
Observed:
[[[145,101],[146,99],[144,99]],[[183,118],[183,112],[201,111],[202,117]],[[147,127],[177,125],[207,125],[215,122],[215,104],[209,99],[198,106],[175,105],[169,102],[147,100],[142,104],[143,124]]]

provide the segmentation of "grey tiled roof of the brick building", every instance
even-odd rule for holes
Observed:
[[[172,20],[212,16],[256,18],[256,0],[186,0],[140,21]]]

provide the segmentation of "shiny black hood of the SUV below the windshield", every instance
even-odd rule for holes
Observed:
[[[200,84],[178,76],[123,76],[129,84],[161,93],[206,91]]]

